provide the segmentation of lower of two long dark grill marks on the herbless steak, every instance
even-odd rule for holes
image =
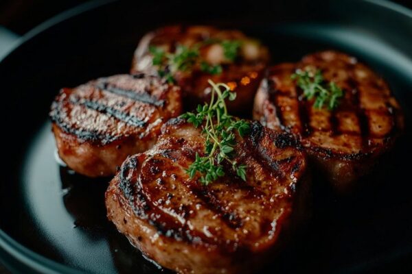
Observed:
[[[144,127],[146,125],[145,121],[142,121],[136,116],[129,115],[126,112],[122,112],[122,110],[116,110],[115,108],[111,108],[108,105],[105,105],[104,103],[99,103],[98,101],[91,101],[87,99],[71,99],[71,103],[84,105],[86,108],[96,110],[108,116],[112,116],[119,121],[124,121],[125,123],[134,125],[136,127]]]

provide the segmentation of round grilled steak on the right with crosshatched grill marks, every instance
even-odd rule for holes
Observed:
[[[308,67],[320,69],[325,80],[344,90],[338,108],[319,110],[312,107],[313,99],[301,96],[290,75]],[[256,94],[253,118],[300,138],[313,163],[342,192],[353,189],[404,127],[400,105],[385,81],[356,58],[336,51],[271,67]]]

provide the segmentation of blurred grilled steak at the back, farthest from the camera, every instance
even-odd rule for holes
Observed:
[[[229,60],[225,57],[222,43],[239,41],[238,58]],[[228,102],[232,113],[250,113],[251,101],[263,77],[264,69],[269,60],[268,49],[258,40],[245,36],[238,30],[223,30],[208,26],[169,26],[157,29],[144,36],[135,51],[131,71],[149,70],[157,73],[153,66],[153,56],[150,47],[158,47],[165,52],[174,53],[179,45],[193,48],[201,45],[199,54],[201,60],[210,65],[222,66],[222,73],[211,74],[202,71],[201,66],[187,71],[177,71],[173,77],[182,88],[185,97],[185,108],[196,108],[198,103],[209,101],[208,79],[215,83],[228,84],[236,91],[235,101]]]

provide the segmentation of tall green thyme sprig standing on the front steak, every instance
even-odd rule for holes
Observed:
[[[233,171],[246,181],[247,166],[232,159],[236,153],[235,132],[244,137],[249,134],[250,125],[247,121],[236,119],[227,113],[225,99],[233,101],[236,99],[236,92],[231,92],[226,84],[215,84],[210,79],[209,84],[212,87],[210,103],[198,105],[197,113],[186,112],[181,115],[194,127],[201,126],[202,134],[205,136],[205,155],[196,153],[196,158],[187,169],[187,173],[191,179],[196,173],[200,173],[200,182],[208,185],[225,175],[222,164],[226,161],[231,164]]]

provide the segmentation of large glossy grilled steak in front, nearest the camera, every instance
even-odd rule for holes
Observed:
[[[273,256],[306,210],[306,160],[290,134],[258,122],[236,137],[247,181],[203,186],[187,169],[203,155],[201,129],[172,119],[152,149],[130,156],[106,191],[108,219],[161,266],[179,273],[251,273]],[[196,175],[198,176],[198,175]]]

